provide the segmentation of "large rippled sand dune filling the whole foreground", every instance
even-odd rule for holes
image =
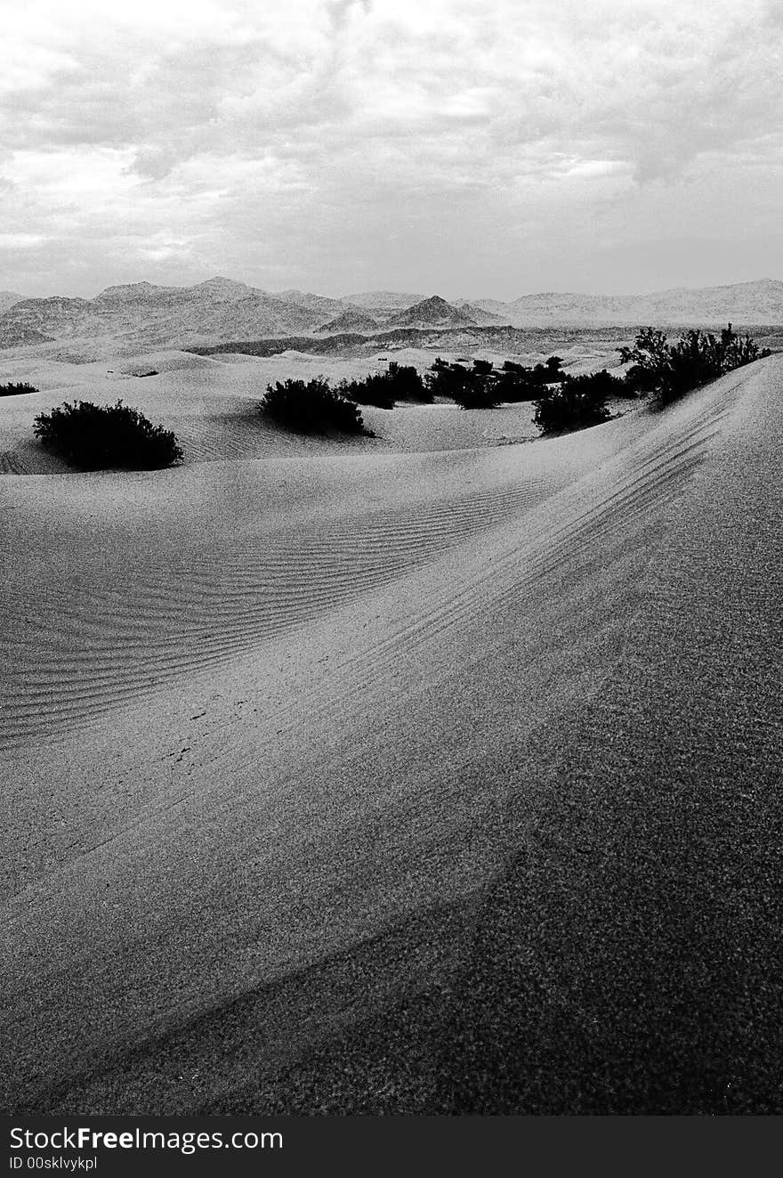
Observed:
[[[4,1103],[781,1111],[782,373],[2,479]]]

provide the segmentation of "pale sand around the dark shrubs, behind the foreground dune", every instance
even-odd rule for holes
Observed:
[[[383,353],[386,356],[387,353]],[[429,353],[409,350],[400,363],[432,362]],[[300,353],[266,359],[248,356],[211,357],[187,352],[147,353],[113,364],[59,364],[29,357],[6,363],[1,379],[25,379],[40,392],[4,397],[0,406],[0,474],[66,472],[33,436],[33,419],[64,401],[112,404],[121,398],[177,435],[185,463],[356,452],[431,452],[532,439],[529,404],[509,405],[492,415],[465,412],[453,404],[400,405],[389,412],[363,408],[374,439],[303,438],[259,421],[257,408],[271,382],[286,377],[310,380],[343,378],[385,370],[386,360],[344,360]],[[155,371],[154,376],[139,376]]]

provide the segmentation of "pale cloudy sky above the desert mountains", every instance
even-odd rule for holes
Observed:
[[[0,0],[0,290],[783,278],[779,0]]]

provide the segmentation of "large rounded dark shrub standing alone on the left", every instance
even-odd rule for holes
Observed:
[[[48,413],[39,413],[33,431],[41,445],[81,470],[155,470],[183,458],[170,430],[152,425],[121,401],[115,405],[66,401]]]

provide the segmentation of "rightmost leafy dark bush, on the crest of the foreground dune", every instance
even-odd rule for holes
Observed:
[[[657,392],[662,404],[769,355],[769,349],[759,349],[750,336],[737,336],[731,324],[719,337],[691,329],[676,344],[669,343],[665,332],[644,327],[632,348],[619,349],[623,364],[631,365],[625,376],[629,385]]]

